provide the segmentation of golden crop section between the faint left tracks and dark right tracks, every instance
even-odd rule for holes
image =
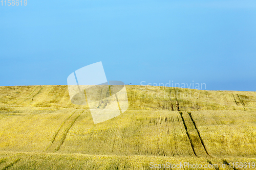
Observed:
[[[127,111],[101,124],[82,114],[60,153],[193,156],[178,112]]]

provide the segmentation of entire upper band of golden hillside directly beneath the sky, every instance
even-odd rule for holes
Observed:
[[[126,85],[130,110],[256,110],[256,92]],[[0,87],[0,105],[88,109],[70,102],[68,86]]]

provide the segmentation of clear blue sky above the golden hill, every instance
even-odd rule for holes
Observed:
[[[125,84],[256,91],[256,1],[0,6],[0,60],[0,86],[65,85],[73,71],[101,61],[108,80]]]

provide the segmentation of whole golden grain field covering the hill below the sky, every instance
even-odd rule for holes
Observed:
[[[151,162],[243,169],[232,162],[256,162],[256,92],[126,90],[129,109],[93,124],[89,107],[72,104],[65,85],[0,87],[0,169],[154,169]]]

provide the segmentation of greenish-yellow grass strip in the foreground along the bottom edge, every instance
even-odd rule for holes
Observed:
[[[111,155],[83,155],[83,154],[54,154],[54,153],[0,153],[0,156],[6,159],[0,164],[4,169],[170,169],[170,168],[150,168],[150,163],[162,164],[170,162],[179,164],[188,162],[190,164],[223,164],[227,162],[256,162],[254,158],[173,158],[162,156],[111,156]],[[194,169],[194,168],[181,168]],[[198,168],[195,168],[198,169]],[[205,168],[202,168],[205,169]],[[207,168],[216,169],[216,168]],[[226,168],[233,169],[226,166]],[[253,168],[246,168],[253,169]]]

